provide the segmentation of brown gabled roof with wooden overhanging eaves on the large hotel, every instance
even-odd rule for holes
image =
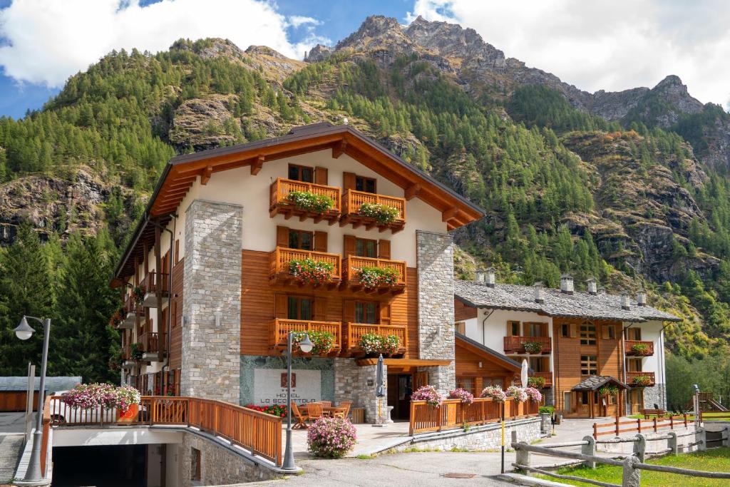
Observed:
[[[295,127],[282,137],[202,150],[172,158],[165,166],[150,202],[134,230],[134,236],[115,271],[115,277],[122,277],[124,273],[131,274],[131,256],[137,255],[141,258],[141,242],[154,239],[155,226],[150,220],[159,219],[159,224],[166,225],[197,177],[207,180],[215,172],[242,166],[250,166],[251,174],[255,175],[268,161],[325,149],[331,149],[334,157],[344,153],[355,158],[403,188],[407,199],[418,196],[428,202],[442,212],[442,220],[449,230],[484,216],[484,211],[464,196],[408,164],[352,126],[314,123]]]

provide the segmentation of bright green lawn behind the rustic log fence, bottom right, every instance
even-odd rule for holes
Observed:
[[[712,450],[706,450],[700,453],[688,453],[677,456],[667,455],[658,459],[650,459],[647,463],[685,469],[707,470],[710,472],[730,472],[730,448],[712,448]],[[621,467],[599,465],[595,470],[585,467],[566,467],[558,469],[558,473],[621,485]],[[548,475],[537,475],[537,477],[567,483],[572,486],[588,485],[575,480],[551,478]],[[642,487],[720,487],[729,486],[730,480],[688,477],[686,475],[642,470],[641,485]]]

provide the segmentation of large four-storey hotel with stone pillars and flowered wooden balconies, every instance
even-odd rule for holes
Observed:
[[[331,206],[295,204],[301,193]],[[376,219],[364,204],[393,213]],[[285,404],[289,331],[333,339],[326,353],[296,354],[294,399],[352,401],[369,421],[376,359],[365,334],[397,337],[385,360],[396,418],[412,389],[448,390],[462,370],[489,364],[506,380],[520,364],[453,328],[448,232],[482,216],[347,125],[177,156],[112,281],[124,303],[123,381],[147,394]],[[296,275],[304,259],[327,264],[328,278]],[[392,279],[368,284],[366,268]]]

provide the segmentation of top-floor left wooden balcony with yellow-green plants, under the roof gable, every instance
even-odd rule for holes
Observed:
[[[329,196],[334,202],[334,206],[331,210],[323,213],[303,210],[296,207],[296,205],[289,200],[289,193],[292,191],[304,191],[322,196]],[[272,217],[274,215],[284,215],[285,220],[288,220],[292,216],[298,216],[299,221],[304,221],[307,218],[313,218],[315,223],[328,221],[331,225],[339,220],[340,202],[341,197],[339,194],[339,188],[335,188],[334,186],[303,183],[302,181],[277,177],[277,180],[272,183],[269,190],[269,215]]]

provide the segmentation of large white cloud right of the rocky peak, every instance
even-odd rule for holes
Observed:
[[[726,0],[415,0],[407,20],[418,15],[474,28],[507,57],[586,91],[677,74],[700,101],[730,100]]]

